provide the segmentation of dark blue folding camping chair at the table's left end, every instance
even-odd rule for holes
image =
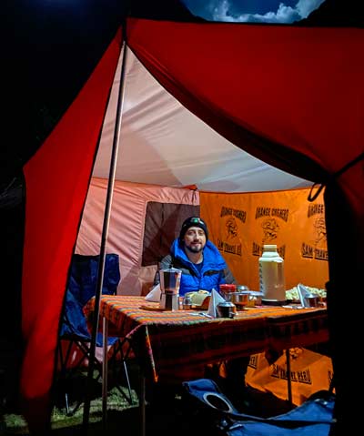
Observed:
[[[76,406],[71,411],[68,404],[68,392],[66,388],[66,380],[69,380],[71,375],[82,365],[85,365],[91,359],[90,342],[91,334],[87,329],[86,317],[83,308],[86,302],[96,294],[96,281],[98,272],[99,256],[85,256],[74,254],[71,263],[71,270],[66,289],[66,301],[62,315],[62,324],[58,342],[59,370],[60,383],[62,389],[65,389],[66,413],[73,415],[80,407],[83,401],[78,401]],[[105,271],[103,279],[102,293],[107,295],[116,294],[117,285],[120,281],[119,258],[116,254],[106,254]],[[118,338],[109,338],[108,346],[112,346],[114,353],[111,353],[113,358],[113,370],[116,373],[116,359],[114,354],[120,353],[118,346]],[[102,347],[102,333],[97,333],[96,346]],[[65,347],[66,345],[66,347]],[[70,365],[72,356],[76,352],[76,361]],[[126,377],[126,387],[128,395],[122,390],[118,384],[116,387],[126,397],[126,400],[132,402],[132,394],[130,382],[126,368],[126,357],[121,356],[124,374]],[[97,371],[96,380],[102,374],[102,362],[94,357],[95,369]]]

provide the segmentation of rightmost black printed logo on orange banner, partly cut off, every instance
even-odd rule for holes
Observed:
[[[325,206],[320,203],[308,205],[308,219],[311,222],[312,238],[302,242],[301,256],[307,259],[328,260]]]

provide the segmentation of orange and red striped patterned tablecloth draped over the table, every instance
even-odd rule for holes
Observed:
[[[87,318],[94,306],[90,299],[84,309]],[[234,319],[208,319],[200,313],[160,311],[144,297],[100,300],[100,319],[108,320],[109,336],[125,338],[146,376],[156,381],[200,378],[207,363],[329,339],[326,309],[265,306],[238,311]]]

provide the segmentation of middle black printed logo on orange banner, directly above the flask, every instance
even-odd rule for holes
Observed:
[[[279,223],[281,220],[283,223],[288,221],[288,208],[265,208],[258,206],[256,209],[256,220],[261,220],[260,227],[262,229],[262,241],[253,241],[252,255],[260,257],[263,253],[263,246],[265,244],[277,244],[277,238],[279,233]],[[284,259],[286,253],[286,246],[278,247],[278,254]]]

